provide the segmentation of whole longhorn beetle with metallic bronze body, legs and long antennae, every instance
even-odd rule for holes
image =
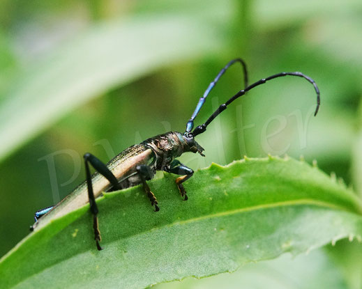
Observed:
[[[243,82],[245,88],[232,96],[229,100],[227,100],[227,102],[221,104],[220,107],[218,107],[218,109],[216,109],[216,111],[214,111],[214,113],[206,120],[206,123],[199,125],[195,128],[195,130],[193,130],[194,120],[197,114],[199,114],[207,95],[209,95],[210,91],[225,71],[231,65],[238,62],[241,63],[243,67]],[[241,58],[233,59],[232,61],[229,61],[222,70],[220,70],[216,78],[213,79],[211,84],[209,84],[208,88],[204,92],[204,95],[199,99],[193,115],[186,124],[185,132],[167,132],[165,134],[159,134],[158,136],[146,139],[146,141],[142,141],[142,143],[130,146],[130,148],[123,150],[122,153],[114,157],[114,159],[111,159],[107,164],[101,162],[100,159],[94,155],[86,153],[84,155],[86,180],[72,193],[66,196],[66,198],[63,198],[63,200],[58,204],[36,212],[36,222],[33,226],[31,226],[31,231],[35,229],[38,230],[38,228],[45,226],[45,224],[48,224],[52,219],[61,217],[67,212],[80,208],[80,206],[89,202],[91,214],[93,214],[94,239],[96,240],[97,249],[101,250],[102,247],[100,247],[99,244],[101,237],[98,226],[98,208],[96,198],[103,192],[112,192],[118,189],[125,189],[142,184],[144,192],[149,197],[151,205],[157,212],[160,209],[158,208],[156,196],[153,192],[151,192],[151,189],[146,182],[147,180],[151,180],[151,178],[153,178],[156,171],[167,171],[168,173],[181,175],[179,178],[176,178],[176,185],[179,188],[181,197],[186,201],[188,196],[185,188],[183,187],[183,182],[191,178],[194,171],[181,164],[176,157],[179,157],[183,153],[187,152],[199,153],[204,156],[202,153],[204,148],[195,141],[195,136],[205,132],[206,127],[216,118],[216,116],[223,112],[234,100],[242,95],[245,95],[252,88],[264,84],[266,81],[271,79],[285,77],[287,75],[303,77],[314,86],[315,93],[317,93],[317,107],[315,109],[316,116],[319,109],[320,98],[319,88],[313,79],[303,75],[301,72],[281,72],[248,85],[248,71],[246,63]],[[91,164],[91,166],[93,166],[96,170],[96,173],[93,173],[93,175],[90,173],[89,164]]]

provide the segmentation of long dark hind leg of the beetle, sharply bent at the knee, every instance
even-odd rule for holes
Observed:
[[[102,240],[100,236],[99,226],[98,226],[98,207],[96,203],[96,198],[93,194],[93,186],[92,186],[92,178],[91,178],[91,171],[89,170],[89,164],[93,166],[98,173],[103,175],[112,185],[113,187],[118,187],[118,181],[114,174],[107,168],[107,166],[100,161],[94,155],[90,153],[86,153],[84,155],[84,165],[86,167],[86,185],[88,187],[88,197],[89,197],[89,205],[91,206],[91,213],[93,214],[93,231],[94,231],[94,240],[96,240],[96,245],[98,250],[102,250],[100,247],[99,242]]]

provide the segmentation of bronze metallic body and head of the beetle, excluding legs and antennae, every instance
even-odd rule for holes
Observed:
[[[114,187],[98,171],[91,175],[94,198],[98,198],[103,192],[112,192],[115,189],[126,189],[141,184],[142,178],[137,173],[137,166],[146,166],[148,168],[146,180],[151,180],[156,171],[169,171],[172,169],[172,162],[176,157],[186,152],[200,153],[202,155],[203,150],[196,141],[190,142],[180,132],[167,132],[146,139],[146,141],[142,141],[142,143],[137,145],[130,146],[106,164],[107,169],[112,171],[116,177],[117,187]],[[192,173],[193,171],[190,169],[189,175]],[[31,230],[43,227],[52,219],[62,217],[64,214],[89,203],[87,189],[87,182],[85,180],[72,194],[63,198],[59,204],[36,212],[36,223],[33,224]],[[148,194],[152,205],[155,206],[157,211],[158,205],[155,196],[151,191]],[[181,193],[181,195],[187,198],[186,192]]]

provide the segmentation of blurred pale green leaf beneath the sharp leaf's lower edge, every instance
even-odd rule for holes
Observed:
[[[274,260],[250,263],[233,274],[219,274],[204,279],[187,278],[181,282],[163,283],[154,288],[219,289],[225,287],[227,289],[354,288],[347,286],[335,262],[322,249],[296,258],[285,254]]]

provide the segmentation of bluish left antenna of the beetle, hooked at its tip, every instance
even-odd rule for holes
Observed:
[[[243,66],[244,87],[248,86],[248,70],[246,69],[245,61],[243,61],[243,59],[241,59],[241,58],[235,58],[232,61],[229,61],[229,63],[227,63],[227,65],[225,65],[225,67],[222,70],[220,70],[220,72],[215,77],[215,79],[213,79],[211,84],[209,84],[209,86],[206,88],[204,95],[202,95],[202,97],[199,99],[199,102],[197,103],[193,116],[191,116],[190,120],[188,120],[188,123],[186,125],[186,132],[191,132],[191,130],[193,130],[194,120],[195,120],[197,114],[199,114],[199,111],[202,108],[202,105],[204,105],[206,97],[207,97],[207,95],[209,95],[211,89],[213,89],[213,87],[216,85],[216,83],[219,81],[220,77],[225,73],[225,71],[236,62],[241,63],[241,65]]]

